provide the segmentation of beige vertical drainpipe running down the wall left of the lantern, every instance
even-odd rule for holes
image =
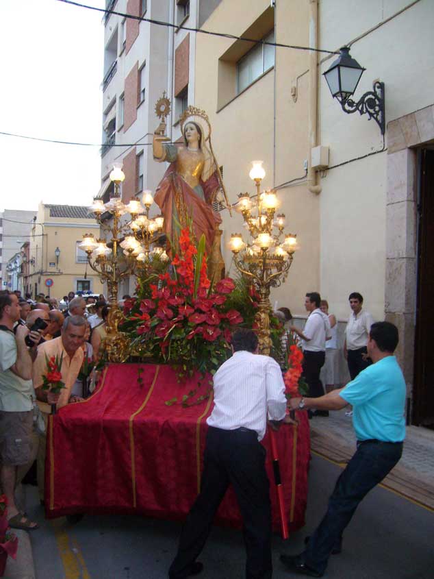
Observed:
[[[309,0],[309,47],[318,48],[318,0]],[[317,184],[318,175],[311,167],[311,149],[318,145],[318,52],[309,51],[309,164],[307,167],[307,188],[311,193],[321,193]]]

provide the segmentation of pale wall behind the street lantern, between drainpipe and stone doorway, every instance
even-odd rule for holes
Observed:
[[[359,6],[356,0],[320,4],[320,45],[333,50],[351,44],[351,56],[366,67],[355,100],[380,79],[385,83],[387,123],[432,104],[433,2],[368,0],[363,10]],[[339,25],[333,25],[336,21]],[[320,72],[331,62],[333,58],[322,62]],[[331,165],[383,148],[378,125],[367,115],[345,114],[323,78],[319,118],[320,143],[330,147]],[[393,146],[389,130],[385,146]],[[387,300],[390,291],[405,293],[405,286],[392,288],[386,275],[387,151],[325,175],[320,194],[322,294],[342,317],[348,312],[348,294],[359,291],[374,318],[384,319],[385,295]]]

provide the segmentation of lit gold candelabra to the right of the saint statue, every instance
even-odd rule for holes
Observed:
[[[256,195],[240,193],[235,210],[242,214],[251,243],[244,243],[242,235],[231,235],[230,247],[237,269],[251,279],[259,293],[259,310],[255,323],[259,328],[259,350],[270,354],[270,288],[285,281],[297,249],[296,235],[284,234],[285,215],[275,215],[279,201],[272,190],[261,193],[265,177],[262,161],[253,161],[249,176],[256,184]],[[277,232],[275,232],[275,229]]]

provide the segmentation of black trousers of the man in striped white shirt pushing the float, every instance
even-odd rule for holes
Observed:
[[[253,430],[209,427],[201,492],[181,532],[178,552],[169,569],[170,579],[188,577],[229,484],[235,490],[244,523],[246,579],[271,578],[271,505],[265,457],[266,449]]]

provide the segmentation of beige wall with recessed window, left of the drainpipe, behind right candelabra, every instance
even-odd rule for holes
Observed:
[[[220,2],[205,23],[207,29],[222,30],[240,36],[252,37],[251,29],[259,16],[269,10],[268,0],[229,0]],[[307,45],[309,42],[307,3],[277,3],[277,42]],[[269,17],[268,17],[269,21]],[[272,19],[271,19],[272,22]],[[268,32],[268,31],[264,31]],[[225,82],[224,69],[229,69],[226,77],[231,84],[235,62],[225,62],[219,58],[236,53],[235,42],[222,38],[197,35],[196,38],[196,90],[195,105],[203,108],[212,123],[212,139],[218,163],[224,168],[224,181],[229,201],[235,202],[238,193],[254,193],[255,187],[248,177],[250,162],[264,160],[267,175],[264,188],[278,186],[295,177],[303,177],[303,160],[309,156],[307,132],[307,106],[309,82],[306,74],[309,57],[306,52],[277,49],[275,68],[257,80],[226,106],[225,90],[219,86]],[[220,79],[219,79],[220,72]],[[298,79],[298,98],[294,102],[290,91]],[[275,99],[276,95],[276,99]],[[314,291],[319,285],[319,199],[309,193],[305,182],[279,190],[281,207],[288,221],[288,232],[298,234],[301,246],[294,258],[288,280],[272,291],[272,303],[289,306],[294,311],[303,311],[306,291]],[[231,233],[246,230],[242,227],[242,217],[234,213],[229,217],[222,212],[224,257],[229,269],[231,252],[227,244]],[[235,269],[230,269],[235,275]]]

